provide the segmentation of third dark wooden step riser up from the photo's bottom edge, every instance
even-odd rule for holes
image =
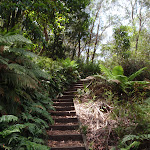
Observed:
[[[77,130],[77,129],[79,129],[79,125],[78,124],[74,124],[74,125],[50,125],[49,129],[51,129],[51,130],[61,130],[61,131]]]

